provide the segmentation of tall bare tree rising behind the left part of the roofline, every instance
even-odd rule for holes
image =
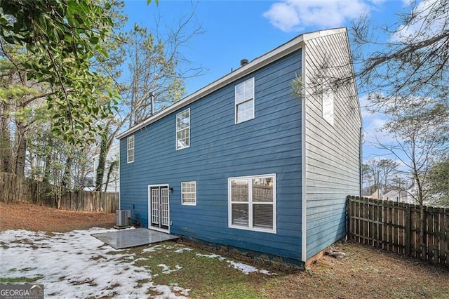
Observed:
[[[184,80],[202,74],[201,67],[192,67],[182,56],[182,48],[188,46],[194,36],[201,34],[201,26],[194,22],[194,13],[181,18],[177,27],[168,29],[166,34],[156,27],[149,30],[138,25],[126,36],[128,69],[130,78],[121,84],[121,105],[114,117],[102,120],[100,136],[100,157],[95,171],[95,189],[102,190],[107,182],[106,155],[112,147],[116,135],[168,107],[185,95]],[[154,107],[152,107],[152,102]]]

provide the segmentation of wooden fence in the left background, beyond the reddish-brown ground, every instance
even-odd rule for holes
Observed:
[[[114,213],[119,193],[71,191],[12,173],[0,173],[0,201],[24,202],[70,211]]]

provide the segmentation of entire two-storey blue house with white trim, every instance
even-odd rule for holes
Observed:
[[[152,230],[304,265],[345,234],[361,112],[347,30],[297,36],[119,135]]]

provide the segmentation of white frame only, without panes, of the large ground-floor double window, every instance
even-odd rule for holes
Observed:
[[[253,180],[260,178],[272,178],[273,182],[273,228],[264,229],[262,227],[254,227],[253,224],[253,205],[261,204],[260,201],[253,201]],[[248,202],[245,201],[232,201],[232,180],[248,180]],[[268,232],[271,234],[277,233],[276,223],[277,223],[277,211],[276,211],[276,194],[277,194],[277,183],[276,183],[276,173],[265,174],[265,175],[248,175],[241,177],[228,178],[228,227],[235,228],[238,230],[250,230],[253,232]],[[232,204],[248,204],[248,226],[243,225],[233,225],[232,224]]]

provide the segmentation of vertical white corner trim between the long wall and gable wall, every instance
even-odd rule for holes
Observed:
[[[306,180],[306,101],[307,101],[307,80],[306,80],[306,46],[302,46],[301,77],[302,77],[302,98],[301,98],[301,260],[307,260],[307,180]]]

